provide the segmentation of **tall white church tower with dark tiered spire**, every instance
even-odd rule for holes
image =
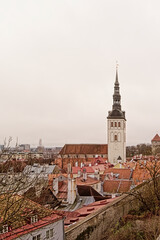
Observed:
[[[114,83],[112,111],[108,112],[108,160],[112,164],[126,161],[126,118],[121,110],[121,95],[118,82],[118,65]]]

